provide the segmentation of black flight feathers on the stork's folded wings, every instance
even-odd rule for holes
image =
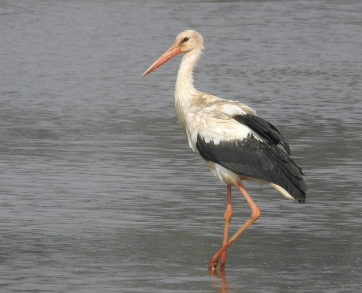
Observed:
[[[234,116],[238,122],[245,124],[265,142],[253,134],[243,140],[211,140],[198,135],[196,148],[206,161],[212,161],[236,174],[265,180],[277,184],[288,191],[292,197],[304,202],[307,187],[303,180],[302,169],[281,149],[281,144],[288,153],[289,147],[282,135],[270,123],[253,115]]]

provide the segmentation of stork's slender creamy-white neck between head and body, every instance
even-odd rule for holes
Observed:
[[[175,108],[180,125],[185,130],[185,117],[189,111],[193,97],[198,94],[194,88],[193,69],[201,56],[201,49],[186,52],[177,73],[175,86]]]

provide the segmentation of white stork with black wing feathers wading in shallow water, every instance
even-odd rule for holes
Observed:
[[[208,95],[194,88],[193,68],[202,49],[203,39],[198,32],[181,32],[173,45],[142,76],[177,54],[184,53],[175,86],[177,118],[188,137],[190,148],[205,159],[216,177],[227,183],[223,245],[209,263],[209,271],[217,274],[220,256],[223,272],[226,249],[260,217],[260,210],[244,189],[242,180],[269,183],[282,196],[299,202],[305,201],[307,187],[302,169],[288,156],[289,146],[277,128],[259,118],[256,112],[245,104]],[[278,144],[286,152],[281,150]],[[227,240],[232,214],[231,186],[239,188],[252,213],[247,222]]]

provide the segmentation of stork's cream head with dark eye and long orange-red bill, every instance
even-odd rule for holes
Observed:
[[[181,32],[181,34],[176,37],[173,45],[146,70],[142,77],[160,67],[177,54],[191,52],[194,49],[203,49],[202,36],[197,31],[193,30]]]

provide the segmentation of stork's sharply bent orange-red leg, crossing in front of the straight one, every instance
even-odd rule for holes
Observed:
[[[254,204],[253,200],[251,199],[251,197],[249,196],[249,194],[247,193],[247,191],[245,190],[243,184],[239,184],[237,186],[240,190],[240,192],[243,194],[243,196],[245,197],[245,200],[247,201],[247,203],[249,204],[250,208],[251,208],[251,215],[250,218],[247,220],[247,222],[245,222],[245,224],[239,229],[237,230],[237,232],[229,239],[229,241],[227,241],[222,248],[219,249],[218,252],[215,253],[215,255],[210,259],[210,263],[209,263],[209,272],[212,274],[215,270],[217,270],[217,264],[218,264],[218,260],[220,258],[220,256],[225,252],[225,250],[232,244],[232,242],[234,242],[234,240],[241,234],[244,232],[244,230],[246,228],[248,228],[257,218],[260,217],[260,210],[258,209],[258,207]]]

